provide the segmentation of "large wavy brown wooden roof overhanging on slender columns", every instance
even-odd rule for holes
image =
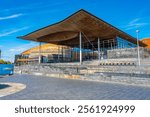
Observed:
[[[82,32],[89,41],[93,42],[97,42],[98,37],[104,40],[119,36],[136,44],[136,39],[134,37],[83,9],[63,21],[36,30],[25,36],[20,36],[19,38],[38,42],[77,46],[79,45],[79,32]],[[83,41],[83,43],[88,42],[87,40]],[[145,46],[142,42],[140,42],[140,45]]]

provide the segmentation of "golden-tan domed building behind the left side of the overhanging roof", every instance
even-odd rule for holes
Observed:
[[[69,51],[69,47],[55,44],[43,44],[30,48],[19,55],[15,55],[15,63],[38,63],[39,56],[41,56],[41,63],[67,61],[67,59],[69,59],[69,53],[63,54],[65,51]]]

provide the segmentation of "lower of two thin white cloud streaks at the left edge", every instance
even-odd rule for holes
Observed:
[[[0,37],[4,37],[4,36],[8,36],[10,34],[13,34],[13,33],[16,33],[16,32],[19,32],[19,31],[22,31],[22,30],[26,30],[28,29],[29,27],[23,27],[23,28],[19,28],[19,29],[14,29],[14,30],[11,30],[11,31],[5,31],[5,32],[1,32],[0,33]]]

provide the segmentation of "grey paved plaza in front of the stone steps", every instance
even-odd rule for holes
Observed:
[[[150,87],[49,78],[34,75],[0,77],[0,83],[21,83],[26,89],[0,97],[1,100],[146,100]]]

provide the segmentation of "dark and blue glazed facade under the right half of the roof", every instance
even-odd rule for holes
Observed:
[[[101,39],[99,47],[100,47],[101,59],[107,59],[108,50],[135,48],[137,47],[137,45],[121,37],[116,37],[116,38],[110,38],[110,39]],[[72,49],[72,53],[77,53],[77,54],[74,54],[73,56],[75,57],[76,55],[75,58],[77,61],[79,61],[79,51],[80,51],[79,48]],[[98,42],[90,42],[88,46],[86,44],[83,44],[82,56],[83,56],[83,60],[98,59]]]

